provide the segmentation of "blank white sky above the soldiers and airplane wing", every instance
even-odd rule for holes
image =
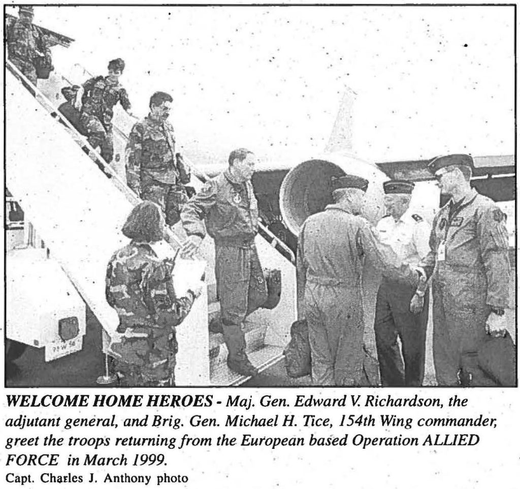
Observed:
[[[220,162],[319,154],[344,87],[357,93],[354,149],[374,161],[514,152],[513,7],[36,7],[73,37],[54,48],[105,74],[122,57],[138,116],[174,96],[177,140]],[[293,155],[293,156],[291,156]]]

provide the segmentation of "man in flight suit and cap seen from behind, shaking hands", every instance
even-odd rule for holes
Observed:
[[[309,327],[315,385],[365,385],[362,268],[368,260],[415,284],[388,245],[359,216],[368,181],[345,175],[332,183],[334,204],[305,220],[298,236],[298,316]],[[400,272],[400,273],[399,273]]]

